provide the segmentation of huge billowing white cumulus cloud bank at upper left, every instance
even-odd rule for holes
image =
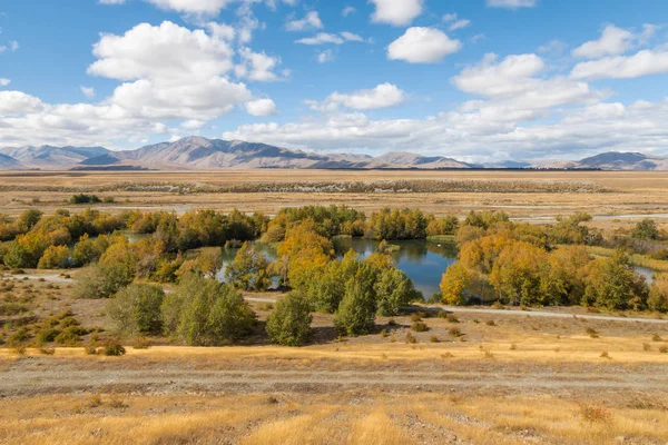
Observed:
[[[234,108],[269,112],[271,99],[247,106],[253,95],[230,76],[243,66],[248,80],[275,80],[272,70],[279,59],[247,47],[236,53],[229,32],[206,28],[208,32],[171,22],[141,23],[124,34],[102,34],[88,73],[119,85],[98,103],[51,105],[20,91],[0,91],[0,126],[6,129],[0,145],[127,144],[169,132],[165,122],[197,129]],[[81,92],[92,97],[95,90],[81,87]]]

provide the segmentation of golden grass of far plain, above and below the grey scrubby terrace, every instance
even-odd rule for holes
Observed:
[[[596,215],[665,212],[668,172],[521,172],[521,171],[299,171],[299,181],[375,181],[375,180],[498,180],[498,181],[592,181],[617,191],[598,194],[523,194],[523,192],[438,192],[438,194],[338,194],[338,192],[254,192],[177,195],[159,191],[99,192],[114,196],[116,204],[95,206],[101,210],[120,211],[122,208],[175,209],[215,208],[243,211],[262,210],[274,214],[283,207],[310,204],[345,204],[365,211],[382,207],[419,207],[435,215],[463,215],[471,209],[503,209],[514,217],[568,215],[589,211]],[[293,170],[220,170],[220,171],[161,171],[161,172],[0,172],[0,187],[108,187],[118,182],[197,182],[215,187],[230,187],[253,182],[291,182]],[[81,206],[65,205],[72,190],[12,191],[1,194],[3,212],[16,215],[26,208],[51,212],[66,207],[73,211]],[[39,204],[32,199],[39,198]],[[127,200],[127,201],[126,201]],[[627,226],[623,220],[616,227]],[[609,224],[609,221],[596,221]]]

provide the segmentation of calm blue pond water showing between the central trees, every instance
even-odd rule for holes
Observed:
[[[448,266],[456,260],[456,248],[453,244],[428,243],[425,240],[392,241],[392,245],[400,246],[400,250],[392,253],[396,267],[404,271],[415,284],[415,288],[425,298],[439,291],[441,277]],[[366,258],[377,250],[379,241],[360,238],[335,238],[334,249],[338,257],[353,249],[361,258]],[[257,244],[256,247],[262,250],[267,258],[275,259],[276,253],[267,245]],[[223,269],[218,274],[218,279],[224,280],[225,268],[234,260],[238,249],[223,249]]]

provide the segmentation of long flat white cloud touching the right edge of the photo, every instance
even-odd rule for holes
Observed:
[[[668,51],[642,50],[633,56],[607,57],[580,62],[571,71],[574,79],[631,79],[668,72]]]

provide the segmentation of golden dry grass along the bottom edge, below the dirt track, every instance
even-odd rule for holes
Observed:
[[[0,406],[0,442],[41,444],[473,444],[668,441],[668,411],[595,400],[601,422],[576,397],[466,394],[134,396],[128,407],[77,412],[90,396],[41,396]],[[646,395],[651,398],[651,396]]]

